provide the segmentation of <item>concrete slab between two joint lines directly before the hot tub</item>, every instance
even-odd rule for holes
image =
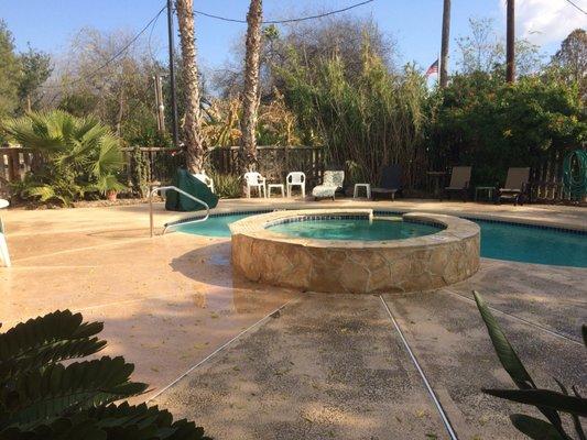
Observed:
[[[445,439],[377,296],[312,294],[154,403],[218,439]]]

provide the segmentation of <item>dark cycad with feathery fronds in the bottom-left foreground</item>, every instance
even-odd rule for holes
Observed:
[[[148,388],[123,358],[75,361],[106,346],[102,327],[65,310],[0,333],[0,439],[208,439],[166,410],[115,403]]]

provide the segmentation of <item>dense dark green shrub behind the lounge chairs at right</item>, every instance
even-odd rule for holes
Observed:
[[[576,87],[523,77],[515,84],[483,73],[457,75],[434,98],[433,166],[471,165],[472,185],[504,183],[508,167],[542,164],[587,140]]]

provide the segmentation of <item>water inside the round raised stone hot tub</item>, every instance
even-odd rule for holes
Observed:
[[[401,240],[436,233],[441,228],[430,224],[393,220],[341,219],[307,220],[276,224],[269,228],[272,232],[302,239],[319,240]]]

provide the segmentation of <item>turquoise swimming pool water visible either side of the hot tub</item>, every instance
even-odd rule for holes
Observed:
[[[197,235],[228,238],[230,237],[228,226],[251,215],[253,213],[214,216],[205,222],[180,226],[175,229]],[[481,228],[481,256],[523,263],[587,267],[587,234],[478,219],[469,220]]]

